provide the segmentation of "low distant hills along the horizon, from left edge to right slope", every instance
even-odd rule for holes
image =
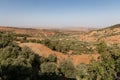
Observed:
[[[63,29],[37,29],[37,28],[17,28],[17,27],[7,27],[0,26],[0,31],[9,31],[16,34],[26,34],[30,36],[40,37],[40,36],[51,36],[57,33],[64,34],[79,34],[82,32],[88,32],[87,28],[63,28]]]

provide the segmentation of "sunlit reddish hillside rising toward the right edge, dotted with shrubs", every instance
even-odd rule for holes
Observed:
[[[120,43],[120,24],[98,30],[91,30],[88,33],[79,35],[78,39],[87,42],[103,40],[112,44]]]

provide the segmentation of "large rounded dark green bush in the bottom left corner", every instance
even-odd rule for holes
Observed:
[[[34,54],[19,47],[7,46],[0,52],[0,74],[4,80],[32,78]]]

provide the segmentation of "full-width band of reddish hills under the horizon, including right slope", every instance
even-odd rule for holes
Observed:
[[[102,29],[91,28],[63,28],[63,29],[34,29],[34,28],[15,28],[0,26],[0,31],[10,31],[16,34],[26,34],[32,37],[52,36],[56,34],[68,34],[71,38],[76,37],[80,41],[96,42],[105,40],[112,43],[120,43],[120,24],[112,25]]]

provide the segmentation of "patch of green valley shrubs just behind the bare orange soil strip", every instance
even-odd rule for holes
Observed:
[[[46,45],[52,50],[59,51],[62,53],[68,53],[72,51],[72,54],[86,54],[94,53],[92,48],[93,43],[80,42],[78,40],[50,40],[45,39],[41,41],[42,44]]]

